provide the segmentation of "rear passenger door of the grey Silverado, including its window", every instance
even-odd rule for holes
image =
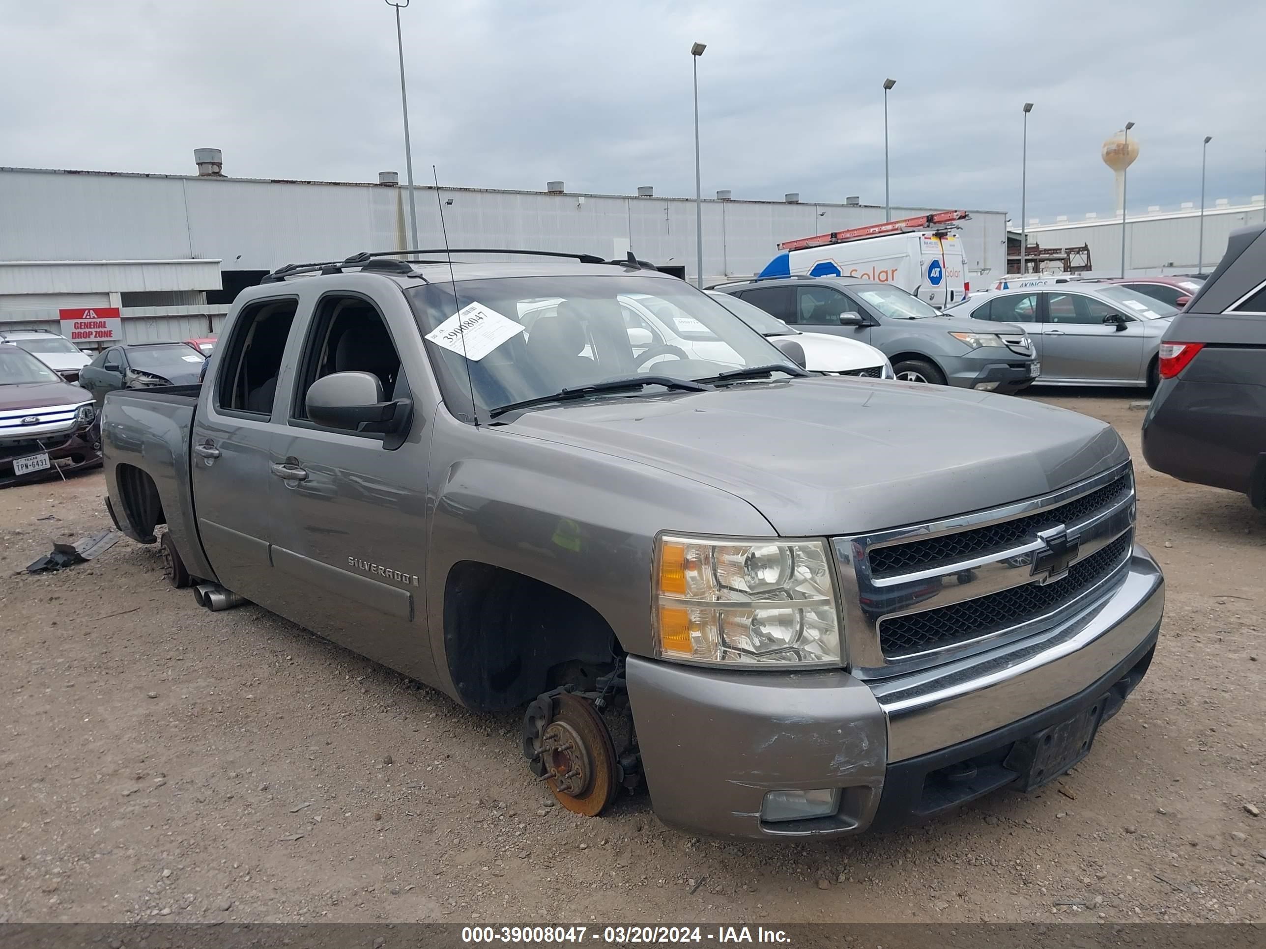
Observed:
[[[208,561],[225,587],[268,606],[268,544],[276,523],[271,502],[276,478],[270,473],[275,402],[296,307],[294,295],[243,306],[214,380],[203,386],[190,458]]]

